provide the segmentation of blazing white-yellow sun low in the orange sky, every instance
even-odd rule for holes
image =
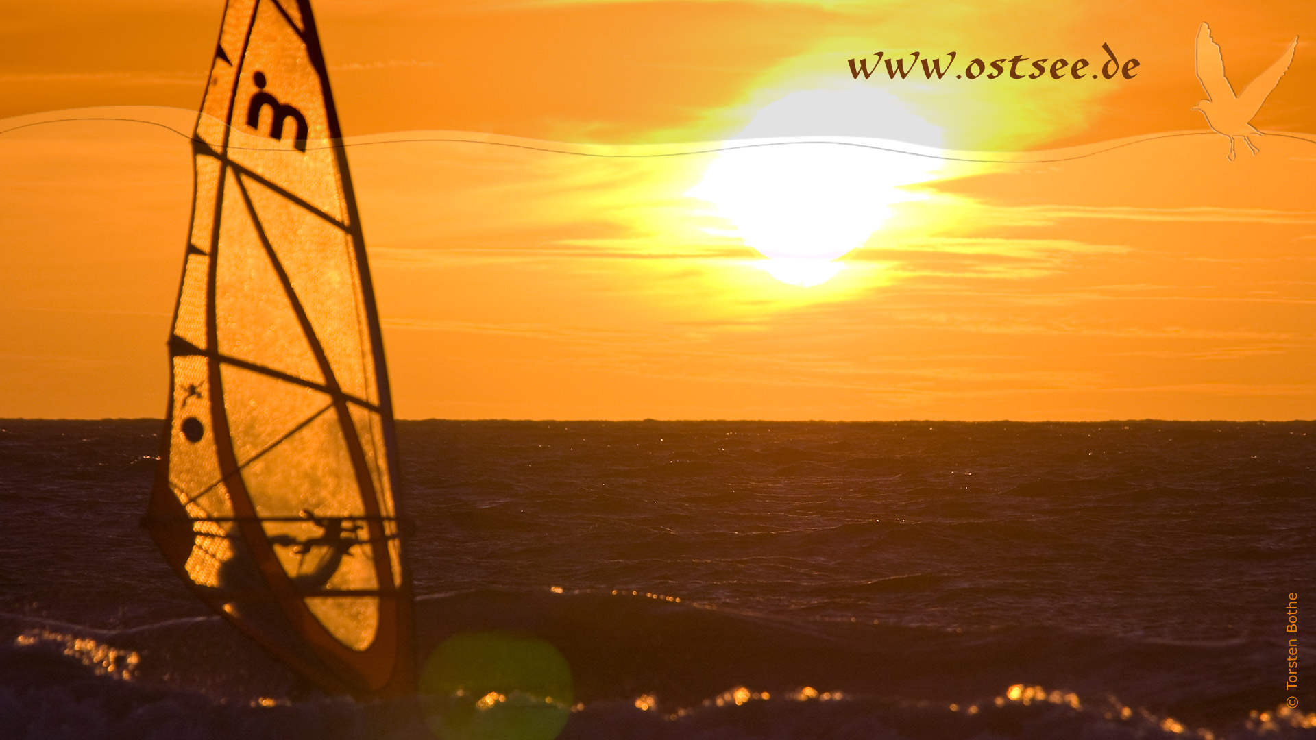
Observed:
[[[812,136],[811,136],[812,133]],[[686,195],[712,203],[783,283],[826,282],[891,205],[920,196],[941,130],[874,87],[794,92],[761,109]]]

